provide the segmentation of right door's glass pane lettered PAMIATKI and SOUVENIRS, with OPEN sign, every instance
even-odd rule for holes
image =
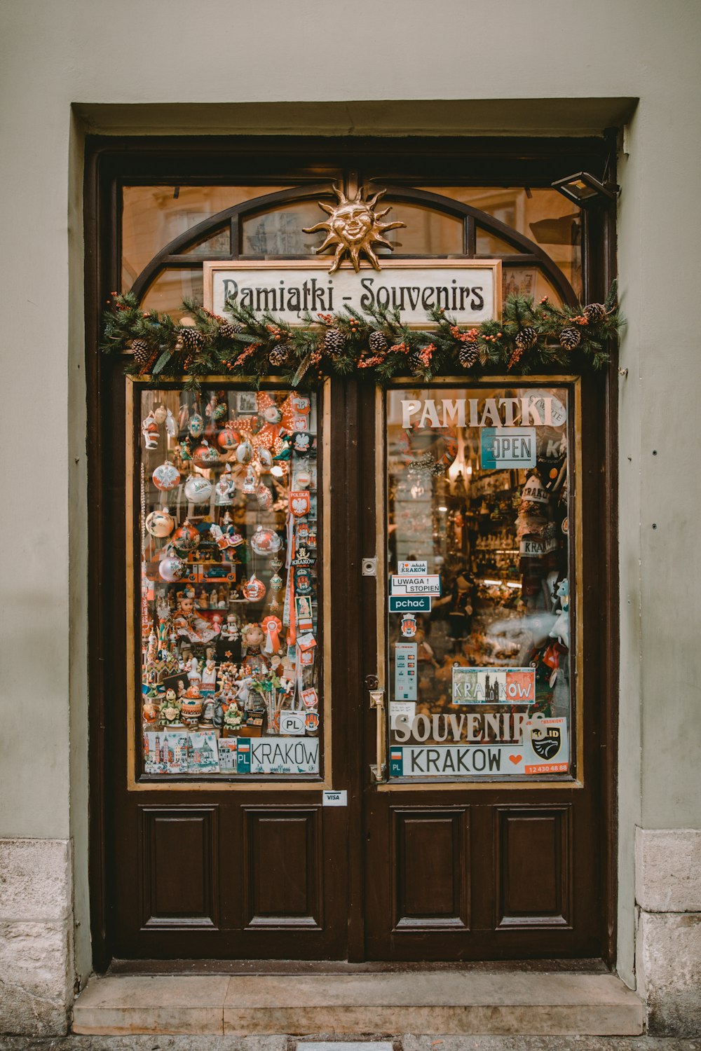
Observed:
[[[390,777],[566,777],[568,390],[386,405]]]

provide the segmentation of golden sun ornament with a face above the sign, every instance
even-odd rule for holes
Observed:
[[[329,273],[335,273],[341,266],[343,256],[348,253],[353,264],[353,269],[357,272],[360,269],[359,253],[365,252],[370,263],[379,270],[379,260],[372,249],[373,245],[385,245],[391,249],[393,246],[383,236],[388,230],[395,230],[406,223],[380,223],[380,219],[391,208],[384,211],[375,211],[375,205],[387,190],[378,190],[374,197],[363,200],[363,189],[358,189],[354,198],[347,198],[343,190],[333,186],[333,191],[338,198],[338,204],[332,208],[324,201],[317,201],[317,205],[328,212],[330,219],[325,223],[317,223],[316,226],[309,226],[304,229],[305,233],[315,233],[316,230],[328,230],[328,235],[323,245],[316,249],[316,254],[323,252],[329,245],[335,245],[336,251],[333,262],[329,268]]]

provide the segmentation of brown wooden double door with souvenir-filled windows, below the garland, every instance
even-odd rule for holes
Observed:
[[[172,383],[125,388],[116,366],[110,389],[111,954],[601,955],[595,380],[327,382],[295,400],[272,382],[255,395],[212,378],[195,400]],[[202,442],[194,466],[183,449],[198,415],[215,463]],[[265,427],[285,446],[269,461]],[[510,429],[524,445],[495,446]],[[248,494],[248,451],[235,458],[247,442]],[[181,475],[165,497],[152,481],[163,462]],[[209,482],[202,502],[191,476]],[[291,494],[305,492],[295,513]],[[172,530],[159,537],[149,516],[164,507]]]

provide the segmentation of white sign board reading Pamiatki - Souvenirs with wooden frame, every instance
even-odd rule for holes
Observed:
[[[288,325],[303,325],[304,314],[398,309],[406,325],[427,325],[433,307],[442,307],[458,325],[479,325],[498,317],[501,302],[499,260],[385,260],[382,270],[350,264],[328,272],[330,259],[260,263],[204,264],[205,307],[226,313],[226,302],[267,310]]]

